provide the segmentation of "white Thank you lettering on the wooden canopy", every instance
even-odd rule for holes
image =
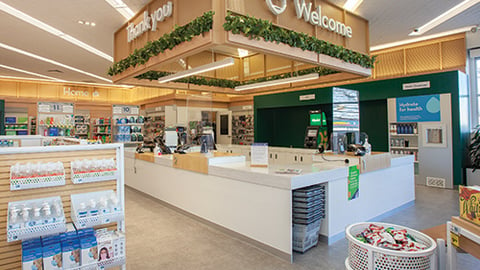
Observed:
[[[173,4],[168,1],[165,5],[159,7],[152,14],[148,14],[148,11],[143,12],[143,20],[137,25],[130,23],[127,26],[127,41],[131,42],[143,33],[150,31],[157,31],[157,23],[163,22],[165,18],[172,16]]]

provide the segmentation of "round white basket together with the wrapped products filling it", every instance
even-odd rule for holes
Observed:
[[[429,236],[399,225],[355,223],[346,232],[347,269],[427,270],[436,269],[437,244]]]

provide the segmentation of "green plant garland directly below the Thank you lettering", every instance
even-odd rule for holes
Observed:
[[[175,25],[172,32],[164,34],[157,40],[147,42],[143,48],[135,49],[127,58],[114,63],[109,68],[108,75],[113,76],[124,72],[129,67],[143,65],[151,57],[163,53],[167,49],[171,50],[185,41],[192,40],[195,36],[212,30],[213,14],[213,11],[208,11],[184,26]]]

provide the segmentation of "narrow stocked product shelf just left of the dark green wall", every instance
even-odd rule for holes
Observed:
[[[253,141],[253,111],[233,112],[232,144],[251,145]]]

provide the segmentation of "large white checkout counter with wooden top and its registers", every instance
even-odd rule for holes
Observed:
[[[173,154],[126,150],[125,184],[289,261],[298,250],[294,196],[322,186],[320,241],[331,244],[345,237],[349,224],[415,200],[414,157],[370,153],[367,140],[360,141],[358,93],[340,92],[343,98],[353,93],[356,101],[334,100],[339,102],[333,102],[330,118],[311,111],[305,149],[268,147],[267,164],[256,166],[255,145],[216,145],[217,151],[207,153],[193,146],[183,152],[178,151],[183,132],[167,130],[164,144],[174,150],[171,141],[177,142]]]

